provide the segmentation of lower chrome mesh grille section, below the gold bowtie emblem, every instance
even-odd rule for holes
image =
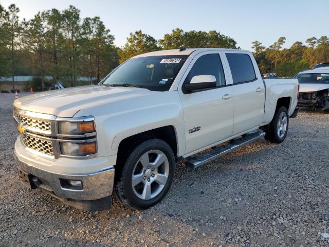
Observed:
[[[21,135],[23,144],[35,151],[54,156],[53,145],[49,140],[43,140],[38,137],[29,136],[26,134]]]

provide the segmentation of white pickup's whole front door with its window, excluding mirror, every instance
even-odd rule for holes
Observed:
[[[182,77],[178,90],[184,111],[187,155],[232,135],[234,95],[224,71],[227,70],[220,52],[205,51],[195,56]],[[216,87],[184,92],[184,83],[197,75],[215,76]]]

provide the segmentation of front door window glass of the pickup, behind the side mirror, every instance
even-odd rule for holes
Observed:
[[[184,83],[190,83],[193,76],[210,75],[216,78],[216,86],[225,85],[225,76],[220,55],[207,54],[199,57],[193,64]]]

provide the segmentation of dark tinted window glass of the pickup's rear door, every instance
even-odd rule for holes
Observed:
[[[248,82],[256,79],[255,70],[247,54],[227,53],[233,83]]]

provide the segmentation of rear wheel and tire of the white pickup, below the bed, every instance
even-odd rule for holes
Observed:
[[[287,136],[289,127],[289,116],[285,107],[280,107],[272,121],[269,123],[269,128],[265,131],[265,140],[271,143],[282,143]]]

